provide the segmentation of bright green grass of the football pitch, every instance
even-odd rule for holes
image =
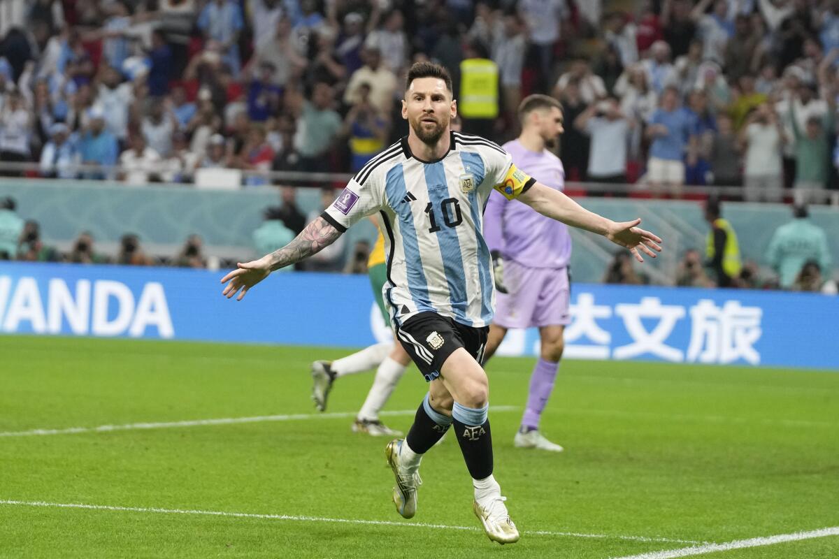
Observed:
[[[340,349],[0,336],[0,432],[315,413],[310,361]],[[492,360],[493,406],[524,406],[530,359]],[[336,382],[357,411],[373,380]],[[388,410],[414,410],[410,368]],[[490,412],[495,474],[522,531],[725,542],[839,525],[839,375],[563,363],[543,429],[565,453],[513,448],[521,409]],[[384,417],[407,430],[413,414]],[[0,437],[0,499],[402,522],[387,441],[351,418]],[[451,435],[421,469],[412,522],[476,528]],[[0,505],[3,557],[580,557],[690,544]],[[839,537],[707,554],[839,556]]]

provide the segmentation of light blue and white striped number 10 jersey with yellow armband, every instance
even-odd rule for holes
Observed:
[[[394,324],[430,311],[481,328],[495,308],[484,206],[493,188],[513,199],[534,182],[482,137],[452,132],[437,161],[414,157],[403,138],[367,163],[322,217],[344,231],[378,212]]]

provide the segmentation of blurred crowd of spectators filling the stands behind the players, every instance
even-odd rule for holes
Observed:
[[[0,173],[323,185],[288,173],[403,136],[418,60],[497,142],[560,99],[571,194],[839,201],[836,0],[0,0]]]

